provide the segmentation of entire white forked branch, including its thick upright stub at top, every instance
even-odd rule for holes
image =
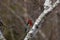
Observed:
[[[45,3],[44,3],[44,11],[36,19],[32,29],[27,33],[24,40],[29,40],[30,38],[34,37],[34,35],[36,35],[36,33],[38,32],[38,28],[39,28],[38,24],[42,21],[43,17],[45,17],[45,15],[48,14],[48,12],[52,11],[60,3],[60,0],[57,0],[53,5],[51,3],[52,2],[50,0],[45,1]]]

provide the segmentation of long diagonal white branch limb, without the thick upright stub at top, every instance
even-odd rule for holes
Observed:
[[[49,8],[46,10],[44,10],[41,15],[37,18],[37,20],[35,21],[32,29],[27,33],[26,37],[24,38],[24,40],[29,40],[30,38],[32,38],[37,32],[38,32],[38,24],[41,22],[41,20],[43,19],[43,17],[45,17],[46,14],[48,14],[50,11],[52,11],[57,5],[58,3],[60,3],[59,0],[57,0],[52,6],[48,6]],[[40,23],[41,24],[41,23]],[[41,26],[40,26],[41,27]]]

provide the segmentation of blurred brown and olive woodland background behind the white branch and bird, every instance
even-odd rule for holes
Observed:
[[[54,3],[56,0],[52,0]],[[44,10],[45,0],[0,0],[0,26],[6,40],[23,40],[25,32],[25,19],[35,22]],[[42,32],[47,40],[60,40],[60,4],[44,18]],[[45,40],[38,32],[31,40]]]

